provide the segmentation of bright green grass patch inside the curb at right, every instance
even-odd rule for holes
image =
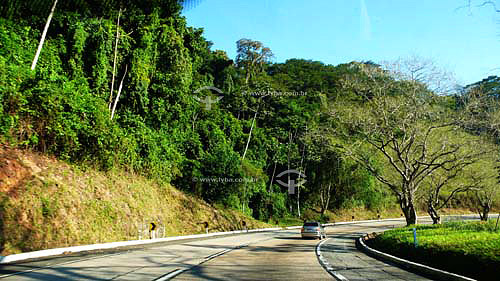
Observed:
[[[478,280],[498,280],[500,232],[496,221],[448,222],[389,230],[367,241],[400,258]],[[418,246],[413,240],[417,231]]]

